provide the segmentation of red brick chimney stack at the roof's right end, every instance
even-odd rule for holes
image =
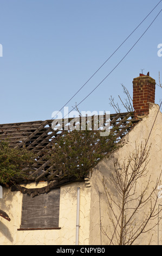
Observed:
[[[155,80],[148,75],[140,74],[133,79],[134,117],[149,113],[149,102],[155,101]]]

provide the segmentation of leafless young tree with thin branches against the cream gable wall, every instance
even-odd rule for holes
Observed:
[[[127,159],[114,164],[114,173],[112,174],[112,184],[118,194],[117,197],[112,195],[104,181],[105,193],[108,202],[109,220],[113,223],[112,237],[108,234],[109,244],[132,245],[138,237],[149,230],[146,230],[147,224],[154,220],[158,215],[157,187],[160,182],[161,174],[155,182],[152,190],[151,176],[143,184],[142,179],[147,175],[147,164],[149,162],[150,147],[146,146],[147,142],[140,147],[135,146],[134,153],[129,154]],[[143,184],[141,191],[137,188],[137,183]],[[118,198],[118,200],[116,200]],[[116,211],[117,207],[117,211]],[[148,211],[145,211],[148,209]],[[145,212],[141,219],[138,219],[139,212]],[[103,233],[106,234],[105,229]],[[107,229],[109,230],[109,229]]]

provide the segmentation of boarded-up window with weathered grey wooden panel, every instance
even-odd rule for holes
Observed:
[[[30,197],[23,194],[21,229],[59,228],[60,188]]]

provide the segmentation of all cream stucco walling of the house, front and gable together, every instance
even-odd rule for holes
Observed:
[[[90,185],[86,182],[74,182],[61,187],[60,194],[60,230],[24,230],[18,231],[21,224],[22,194],[10,192],[3,188],[3,199],[0,199],[0,209],[7,212],[11,221],[0,219],[0,245],[75,245],[76,235],[76,198],[77,187],[80,187],[80,229],[79,245],[107,245],[108,236],[111,235],[110,220],[108,216],[107,199],[103,187],[103,177],[107,181],[106,186],[117,200],[115,188],[110,176],[113,171],[114,161],[123,161],[129,153],[135,149],[135,143],[140,145],[148,138],[151,145],[150,162],[148,164],[148,176],[151,175],[151,187],[155,184],[162,170],[162,114],[158,105],[150,105],[150,113],[138,123],[132,131],[125,136],[126,144],[109,159],[102,160],[92,172]],[[157,115],[158,113],[158,115]],[[157,118],[155,120],[155,117]],[[154,122],[155,121],[155,122]],[[154,125],[153,125],[154,124]],[[151,134],[150,134],[151,132]],[[148,179],[148,176],[146,179]],[[162,177],[161,177],[162,178]],[[139,184],[139,189],[144,184]],[[40,183],[38,186],[46,184]],[[28,185],[33,187],[34,185]],[[158,192],[158,191],[157,191]],[[158,198],[158,205],[162,207],[162,197]],[[157,205],[157,206],[158,206]],[[139,215],[141,218],[142,215]],[[162,212],[159,217],[162,216]],[[154,223],[157,223],[155,217]],[[148,228],[151,227],[148,225]],[[103,229],[101,229],[101,226]],[[105,230],[105,234],[103,233]],[[159,240],[159,241],[158,241]],[[162,220],[155,225],[150,232],[142,234],[136,241],[139,245],[162,245]]]

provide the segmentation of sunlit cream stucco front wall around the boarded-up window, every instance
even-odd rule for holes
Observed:
[[[46,186],[41,182],[37,186]],[[56,230],[17,230],[21,224],[22,194],[3,188],[0,209],[7,212],[11,221],[1,217],[0,245],[75,245],[77,187],[80,187],[80,229],[79,244],[89,244],[90,187],[85,182],[75,182],[61,187],[59,227]]]

